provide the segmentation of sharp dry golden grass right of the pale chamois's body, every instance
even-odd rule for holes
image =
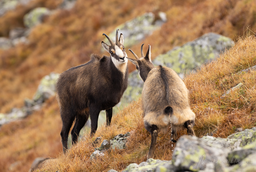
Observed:
[[[238,73],[256,65],[255,48],[254,36],[238,39],[217,61],[185,77],[184,82],[191,92],[191,107],[197,113],[197,136],[216,130],[214,136],[225,138],[238,127],[245,129],[256,125],[256,72]],[[238,83],[243,86],[221,97]]]

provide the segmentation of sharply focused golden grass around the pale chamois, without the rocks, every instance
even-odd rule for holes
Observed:
[[[184,82],[190,90],[191,108],[196,114],[195,134],[198,137],[213,132],[213,136],[225,138],[238,127],[256,126],[256,71],[237,72],[256,65],[256,38],[248,37],[222,54],[220,58],[201,67],[195,74],[187,75]],[[225,98],[221,98],[228,89],[243,83]],[[100,127],[95,137],[111,139],[119,133],[131,132],[127,149],[108,151],[104,157],[89,161],[94,151],[92,142],[95,138],[85,139],[72,147],[66,155],[60,156],[44,168],[45,171],[108,171],[123,170],[129,163],[140,163],[146,160],[150,145],[150,134],[143,126],[140,99],[132,102],[117,114],[111,126]],[[170,130],[170,129],[169,129]],[[170,134],[163,131],[159,134],[155,159],[171,160],[173,147]],[[185,130],[178,132],[178,137]],[[99,145],[98,145],[99,146]],[[174,144],[175,147],[175,144]]]

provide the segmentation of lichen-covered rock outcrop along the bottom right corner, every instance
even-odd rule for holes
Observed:
[[[256,170],[256,127],[228,138],[183,135],[172,161],[148,159],[132,163],[122,172],[251,172]],[[232,165],[235,164],[235,165]],[[109,172],[116,172],[114,170]]]

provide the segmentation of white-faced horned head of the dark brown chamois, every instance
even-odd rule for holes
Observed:
[[[124,47],[124,36],[122,34],[120,34],[120,38],[118,40],[118,30],[116,30],[116,42],[112,42],[112,40],[108,37],[108,35],[106,35],[105,33],[103,33],[103,35],[105,35],[110,43],[110,46],[108,44],[106,44],[105,42],[102,41],[102,46],[103,48],[110,53],[111,55],[111,59],[113,61],[113,63],[115,64],[115,66],[122,71],[122,69],[124,68],[123,64],[127,64],[127,54],[125,52],[125,47]],[[126,65],[125,65],[126,66]]]

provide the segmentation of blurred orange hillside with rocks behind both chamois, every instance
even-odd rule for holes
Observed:
[[[28,171],[35,158],[62,152],[58,74],[92,53],[109,55],[102,34],[114,40],[117,28],[128,57],[128,49],[140,57],[141,44],[144,53],[150,44],[153,63],[182,78],[254,34],[256,1],[0,0],[0,171]],[[129,86],[115,112],[142,90],[135,66],[128,67]]]

